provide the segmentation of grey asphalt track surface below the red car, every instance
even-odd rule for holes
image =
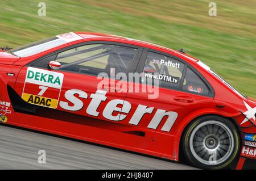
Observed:
[[[38,163],[39,150],[46,163]],[[51,134],[0,125],[0,169],[195,169]]]

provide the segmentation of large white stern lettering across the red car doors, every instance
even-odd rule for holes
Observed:
[[[107,97],[105,95],[106,91],[104,90],[97,90],[95,94],[90,94],[89,98],[92,100],[90,100],[90,103],[86,108],[85,112],[88,115],[97,117],[100,114],[100,112],[97,111],[98,107],[100,106],[101,102],[105,102],[107,100]],[[79,111],[84,108],[84,102],[82,102],[81,99],[88,99],[88,94],[82,90],[72,89],[65,92],[65,99],[67,99],[67,101],[63,100],[59,103],[61,108],[68,111]],[[130,113],[130,110],[131,103],[127,102],[126,100],[113,99],[110,100],[108,104],[106,104],[102,112],[102,116],[108,120],[122,121],[126,118],[127,114]],[[154,110],[154,107],[147,107],[139,104],[137,109],[133,113],[133,116],[131,116],[129,124],[138,125],[139,122],[142,120],[142,117],[146,113],[152,114]],[[119,113],[113,114],[114,112]],[[147,128],[158,128],[159,124],[165,117],[165,123],[163,124],[161,131],[170,132],[172,126],[177,119],[177,116],[177,112],[158,109],[155,111],[154,115],[152,115],[152,119],[147,125]]]

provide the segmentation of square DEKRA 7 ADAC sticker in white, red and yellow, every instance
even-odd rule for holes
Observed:
[[[57,108],[63,77],[62,73],[29,67],[22,99],[38,106]]]

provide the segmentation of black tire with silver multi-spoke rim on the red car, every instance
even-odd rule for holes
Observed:
[[[232,121],[209,115],[189,124],[181,141],[183,155],[192,166],[225,169],[238,157],[240,140],[240,134]]]

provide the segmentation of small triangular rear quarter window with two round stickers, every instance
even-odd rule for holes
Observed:
[[[209,88],[204,81],[190,68],[187,69],[182,90],[194,92],[199,95],[208,95]]]

